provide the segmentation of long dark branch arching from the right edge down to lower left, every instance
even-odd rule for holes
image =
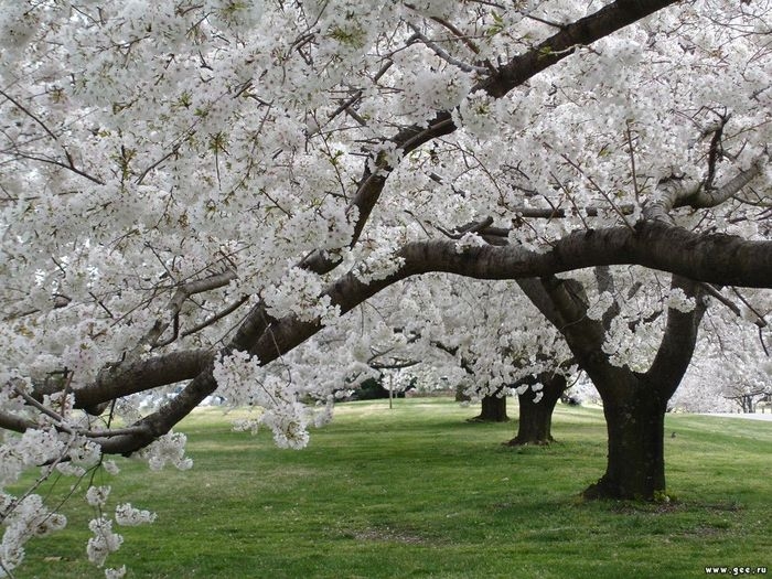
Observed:
[[[516,246],[472,247],[460,251],[453,242],[429,240],[406,245],[397,257],[403,265],[392,276],[367,282],[349,272],[331,283],[324,294],[343,314],[399,280],[431,271],[478,279],[518,279],[623,264],[636,264],[712,283],[772,288],[772,242],[700,235],[661,222],[642,222],[635,229],[612,227],[576,232],[556,242],[545,253]],[[571,321],[568,317],[565,319]],[[307,322],[296,317],[275,320],[248,350],[261,364],[267,364],[322,328],[320,321]],[[104,440],[105,452],[132,452],[168,432],[216,389],[212,369],[213,360],[176,398],[140,420],[136,425],[138,432]]]

